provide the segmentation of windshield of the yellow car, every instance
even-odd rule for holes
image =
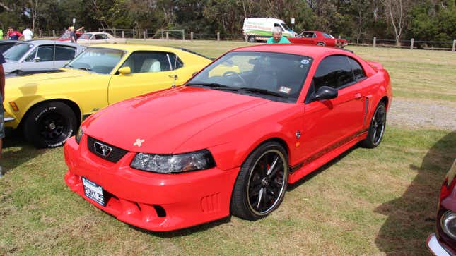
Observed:
[[[66,65],[67,68],[79,68],[95,73],[109,74],[120,59],[124,51],[105,48],[89,48],[79,54],[76,59]]]

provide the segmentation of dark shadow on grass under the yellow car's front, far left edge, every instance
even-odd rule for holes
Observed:
[[[43,154],[45,151],[45,149],[38,150],[30,145],[17,131],[8,133],[3,139],[3,149],[1,150],[0,164],[3,174],[5,175],[11,169]]]

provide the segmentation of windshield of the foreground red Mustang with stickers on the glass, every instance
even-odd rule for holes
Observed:
[[[312,58],[308,56],[233,51],[205,68],[187,85],[246,94],[255,92],[268,99],[296,102],[311,64]]]

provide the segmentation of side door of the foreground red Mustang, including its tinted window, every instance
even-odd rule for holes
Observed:
[[[333,87],[338,96],[312,100],[312,92],[322,86]],[[366,97],[361,86],[347,56],[328,56],[320,62],[306,99],[304,159],[317,159],[360,133],[366,111]]]

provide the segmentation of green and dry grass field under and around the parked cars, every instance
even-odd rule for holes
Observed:
[[[242,45],[182,44],[212,57]],[[455,82],[448,82],[456,80],[455,74],[447,70],[456,69],[454,53],[416,50],[412,56],[404,49],[351,49],[385,65],[396,95],[456,103]],[[431,79],[438,76],[447,79]],[[429,88],[442,90],[428,94],[426,86],[411,83],[428,78]],[[35,150],[21,138],[6,138],[5,144],[0,255],[426,254],[440,184],[456,157],[456,131],[388,126],[379,147],[354,147],[292,185],[281,207],[267,218],[231,217],[155,233],[117,221],[70,192],[62,148]]]

